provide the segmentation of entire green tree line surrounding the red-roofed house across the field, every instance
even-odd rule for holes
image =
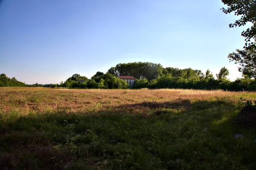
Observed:
[[[232,54],[229,55],[229,57]],[[119,63],[111,67],[107,73],[96,72],[90,79],[74,74],[60,84],[52,87],[83,88],[83,89],[224,89],[230,91],[256,90],[255,74],[239,69],[243,78],[235,81],[227,79],[229,70],[222,67],[215,76],[208,69],[205,73],[198,69],[164,68],[161,64],[148,62]],[[119,75],[131,75],[137,78],[133,87],[119,79]]]

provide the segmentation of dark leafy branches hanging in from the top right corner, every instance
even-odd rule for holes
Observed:
[[[256,1],[255,0],[222,0],[227,5],[227,9],[222,8],[222,12],[230,14],[235,12],[235,15],[241,16],[235,23],[231,23],[229,26],[237,27],[244,26],[246,23],[253,23],[253,26],[243,31],[241,35],[245,38],[245,46],[253,45],[249,43],[251,39],[256,39]]]

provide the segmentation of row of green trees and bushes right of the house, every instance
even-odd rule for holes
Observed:
[[[209,69],[205,74],[201,70],[193,70],[191,68],[177,69],[168,67],[165,69],[167,72],[151,81],[147,79],[135,81],[134,88],[224,89],[230,91],[256,89],[256,81],[248,76],[238,78],[236,81],[228,80],[229,71],[225,67],[221,68],[220,72],[216,74],[217,79],[214,78]]]

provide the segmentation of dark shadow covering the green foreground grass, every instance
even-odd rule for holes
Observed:
[[[235,117],[232,102],[182,99],[32,114],[1,125],[0,168],[252,169],[255,144],[233,138]]]

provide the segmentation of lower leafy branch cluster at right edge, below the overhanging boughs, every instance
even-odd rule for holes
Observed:
[[[239,72],[256,80],[256,46],[250,46],[244,50],[236,49],[236,52],[230,53],[227,57],[230,62],[239,63]]]

